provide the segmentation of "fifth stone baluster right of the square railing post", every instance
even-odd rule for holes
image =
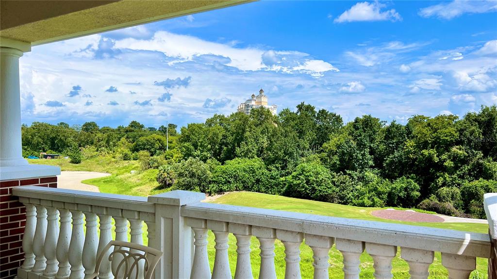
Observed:
[[[276,237],[285,245],[285,279],[301,278],[300,244],[304,235],[301,232],[276,230]]]

